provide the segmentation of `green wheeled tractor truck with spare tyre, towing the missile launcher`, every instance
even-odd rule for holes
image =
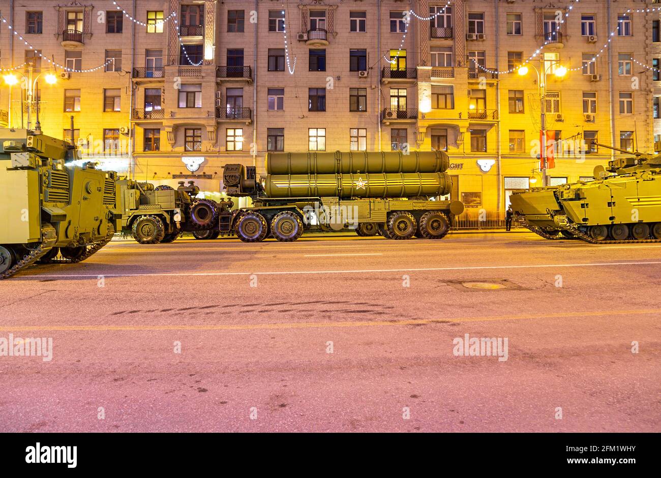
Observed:
[[[122,230],[140,244],[173,242],[182,232],[198,239],[215,239],[219,211],[230,209],[231,201],[217,203],[196,199],[200,188],[189,181],[176,189],[134,180],[118,181]]]

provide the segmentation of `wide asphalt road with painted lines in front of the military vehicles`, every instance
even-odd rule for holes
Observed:
[[[658,432],[660,267],[527,233],[112,242],[0,282],[0,337],[53,341],[0,357],[0,430]]]

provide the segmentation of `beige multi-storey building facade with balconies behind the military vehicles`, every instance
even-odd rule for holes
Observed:
[[[542,109],[550,184],[620,154],[594,143],[661,149],[655,3],[5,0],[0,66],[32,61],[30,45],[102,65],[35,82],[42,130],[69,138],[73,120],[87,156],[135,178],[217,192],[224,164],[263,168],[267,150],[436,148],[469,215],[502,213],[511,189],[543,182]],[[34,63],[33,77],[51,71]],[[11,95],[0,88],[0,124],[26,125],[20,85]]]

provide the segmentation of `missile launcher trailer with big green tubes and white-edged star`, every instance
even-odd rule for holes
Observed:
[[[227,195],[251,197],[253,207],[223,211],[219,230],[244,242],[289,242],[319,222],[359,236],[441,239],[463,212],[460,201],[436,200],[451,189],[448,166],[442,151],[268,153],[258,181],[254,167],[228,164]]]

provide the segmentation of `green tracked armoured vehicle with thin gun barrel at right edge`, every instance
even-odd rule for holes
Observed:
[[[631,154],[617,148],[621,153]],[[513,193],[512,211],[543,238],[593,244],[661,241],[661,154],[596,166],[594,181]]]

